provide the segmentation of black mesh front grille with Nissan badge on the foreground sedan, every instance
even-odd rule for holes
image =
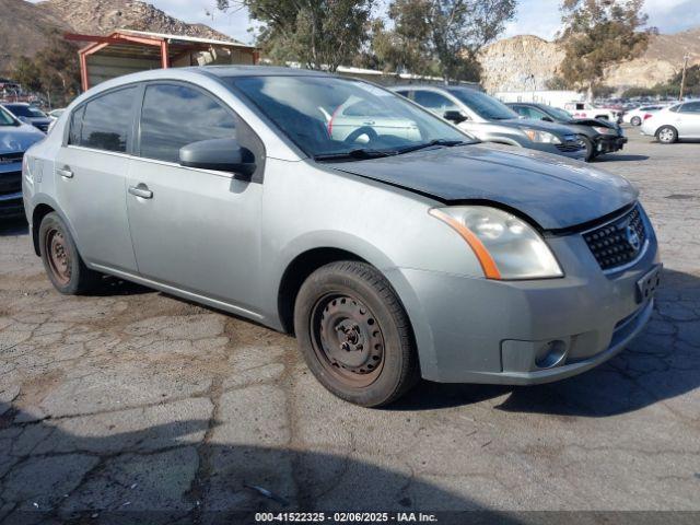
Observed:
[[[583,238],[604,270],[634,260],[646,242],[646,229],[639,206],[619,219],[584,233]]]

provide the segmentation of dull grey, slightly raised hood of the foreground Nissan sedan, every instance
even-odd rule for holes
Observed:
[[[638,197],[617,175],[559,155],[498,144],[421,150],[332,167],[444,202],[490,201],[513,208],[544,230],[599,219]]]

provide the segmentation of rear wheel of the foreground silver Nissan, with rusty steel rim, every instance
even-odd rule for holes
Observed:
[[[51,284],[60,293],[79,295],[97,287],[101,273],[85,266],[70,231],[56,212],[42,220],[39,253]]]

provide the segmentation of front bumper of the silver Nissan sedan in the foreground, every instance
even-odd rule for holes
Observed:
[[[590,370],[644,327],[653,296],[638,281],[658,265],[656,238],[630,267],[604,273],[581,234],[548,238],[565,277],[494,281],[396,269],[421,374],[443,383],[527,385]],[[400,289],[401,282],[408,289]],[[548,358],[552,350],[558,359]]]

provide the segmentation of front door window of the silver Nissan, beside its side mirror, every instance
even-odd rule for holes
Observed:
[[[141,109],[141,156],[178,162],[183,145],[236,138],[233,114],[213,97],[182,84],[145,89]]]

